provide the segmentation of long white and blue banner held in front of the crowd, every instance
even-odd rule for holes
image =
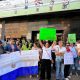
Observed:
[[[0,80],[16,80],[19,76],[38,74],[37,50],[0,55]]]

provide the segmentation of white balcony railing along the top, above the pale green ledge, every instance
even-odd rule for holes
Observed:
[[[64,3],[78,2],[79,0],[42,0],[42,4],[38,2],[35,3],[35,0],[4,0],[0,1],[0,11],[13,11],[21,9],[29,9],[33,7],[41,6],[50,6]],[[27,8],[26,8],[27,7]]]

